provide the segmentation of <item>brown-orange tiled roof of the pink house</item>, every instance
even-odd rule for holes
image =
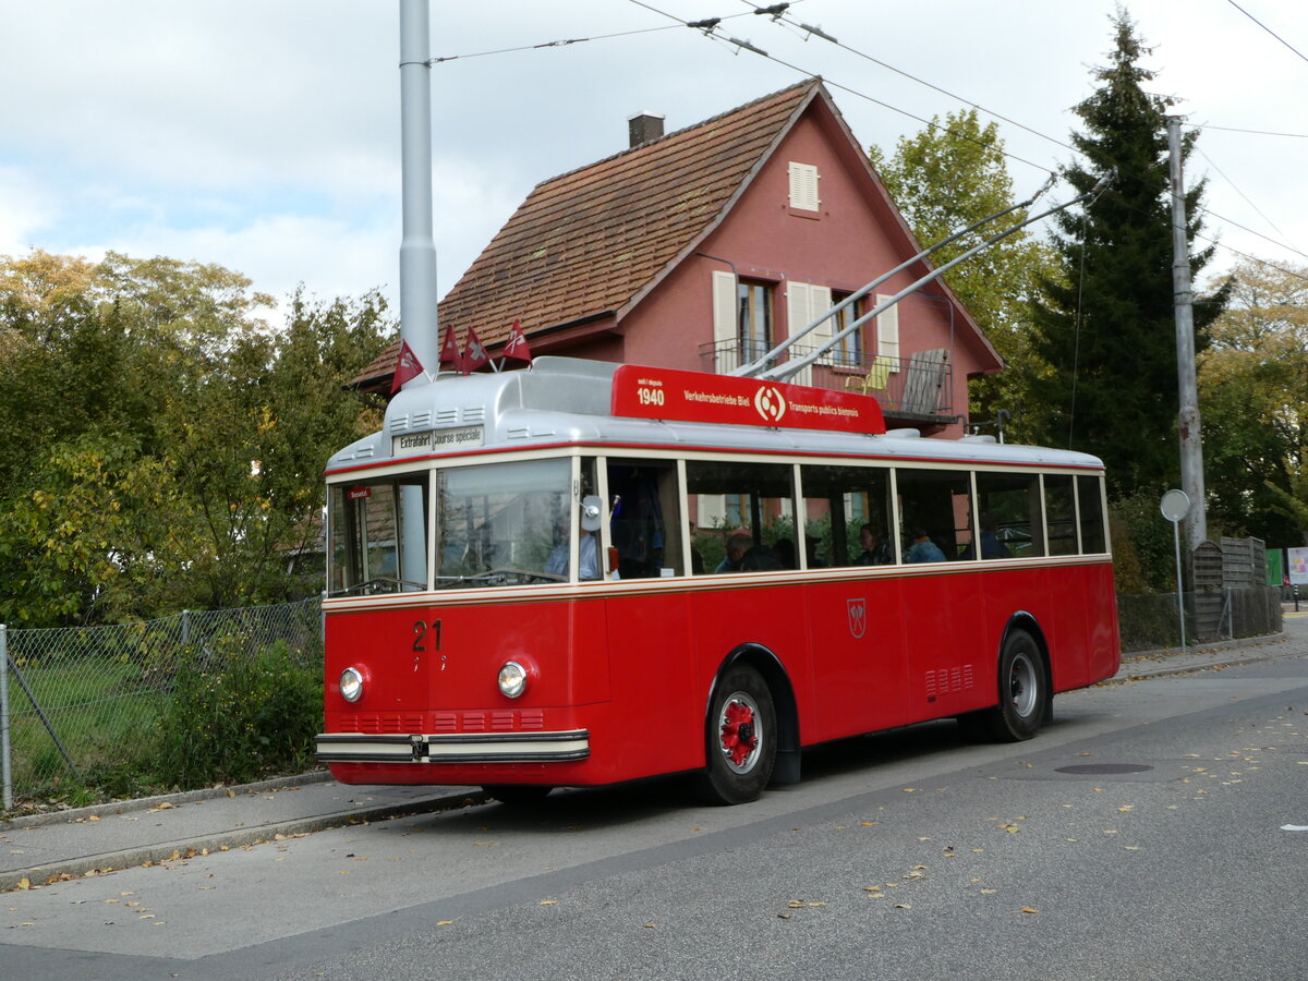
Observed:
[[[713,224],[810,97],[810,78],[543,181],[439,305],[441,334],[488,347],[619,313]],[[390,377],[399,341],[361,378]],[[434,368],[429,365],[428,368]]]

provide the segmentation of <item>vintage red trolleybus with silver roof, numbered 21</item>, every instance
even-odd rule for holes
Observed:
[[[402,391],[327,481],[347,783],[739,803],[855,734],[1027,739],[1118,667],[1103,464],[863,395],[543,357]]]

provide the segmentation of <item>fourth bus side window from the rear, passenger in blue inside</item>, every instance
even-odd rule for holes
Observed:
[[[972,548],[971,479],[956,470],[895,471],[905,562],[965,559]]]

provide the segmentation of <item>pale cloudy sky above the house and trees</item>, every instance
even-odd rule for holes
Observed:
[[[433,56],[460,56],[432,69],[438,293],[534,184],[624,149],[628,116],[662,114],[678,129],[807,75],[828,80],[865,145],[891,149],[965,102],[1029,127],[1039,135],[999,123],[1022,158],[1010,161],[1016,188],[1031,191],[1071,160],[1059,144],[1112,48],[1114,5],[791,4],[789,17],[855,54],[740,0],[649,0],[683,21],[723,17],[721,34],[786,67],[632,0],[432,0]],[[1186,174],[1210,178],[1209,234],[1308,264],[1308,3],[1127,9],[1154,47],[1142,61],[1159,72],[1154,90],[1176,97],[1189,124],[1224,127],[1203,131]],[[398,0],[0,0],[0,255],[111,249],[221,263],[279,297],[302,283],[322,298],[378,286],[394,300],[398,10]],[[623,31],[641,33],[600,37]],[[472,56],[579,38],[591,41]],[[1235,259],[1219,250],[1216,264]]]

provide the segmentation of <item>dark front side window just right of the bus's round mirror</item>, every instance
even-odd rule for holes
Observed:
[[[608,460],[610,536],[619,577],[685,576],[681,498],[672,460]]]

